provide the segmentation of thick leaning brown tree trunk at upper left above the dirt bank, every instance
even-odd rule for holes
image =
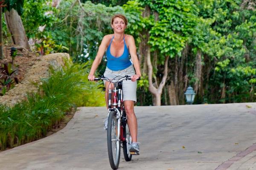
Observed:
[[[12,35],[12,41],[15,45],[29,49],[29,42],[26,37],[22,20],[15,9],[5,12],[6,25]]]

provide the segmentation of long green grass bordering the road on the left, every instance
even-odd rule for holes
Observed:
[[[105,105],[100,84],[87,81],[89,68],[67,61],[62,68],[50,68],[49,77],[26,100],[13,107],[0,104],[0,150],[41,139],[72,108]]]

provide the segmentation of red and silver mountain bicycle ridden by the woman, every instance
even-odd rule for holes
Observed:
[[[97,80],[106,80],[114,84],[114,90],[108,90],[108,158],[111,168],[116,170],[120,161],[120,144],[122,143],[125,161],[131,161],[132,155],[139,153],[130,153],[131,134],[127,124],[125,106],[123,103],[122,81],[131,80],[130,76],[125,76],[119,80],[109,80],[107,77],[95,78]],[[113,98],[112,98],[113,93]],[[111,102],[111,99],[113,102]],[[112,107],[113,106],[113,107]]]

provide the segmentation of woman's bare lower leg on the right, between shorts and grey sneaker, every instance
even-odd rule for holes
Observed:
[[[137,118],[134,113],[134,101],[125,100],[124,104],[132,142],[137,142]]]

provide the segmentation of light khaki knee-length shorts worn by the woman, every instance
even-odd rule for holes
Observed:
[[[104,77],[107,77],[108,79],[115,79],[118,80],[121,77],[124,76],[133,76],[135,75],[134,67],[133,65],[130,65],[128,68],[125,68],[124,70],[119,71],[112,71],[108,67],[105,70]],[[104,85],[105,85],[104,80]],[[106,87],[106,91],[108,87]],[[132,82],[131,80],[123,80],[122,82],[122,91],[123,91],[123,101],[125,100],[133,100],[134,102],[137,102],[136,98],[136,91],[137,91],[137,81]]]

